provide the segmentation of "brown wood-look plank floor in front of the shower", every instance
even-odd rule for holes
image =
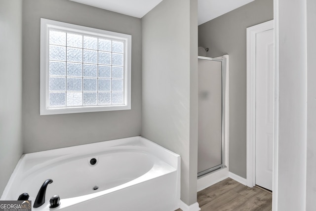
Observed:
[[[272,193],[231,178],[197,192],[197,202],[201,211],[272,211]]]

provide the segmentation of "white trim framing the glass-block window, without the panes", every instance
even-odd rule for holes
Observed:
[[[59,28],[61,30],[71,30],[78,33],[89,32],[94,36],[112,37],[113,39],[125,40],[125,72],[124,72],[124,105],[106,105],[106,106],[82,106],[82,107],[62,107],[62,108],[48,108],[48,29],[49,27]],[[69,113],[84,113],[84,112],[98,112],[98,111],[117,111],[117,110],[130,110],[131,109],[131,46],[132,36],[121,34],[101,29],[84,27],[59,21],[53,21],[41,18],[40,19],[40,115],[51,114],[69,114]]]

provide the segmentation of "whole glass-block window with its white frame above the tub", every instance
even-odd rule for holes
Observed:
[[[131,35],[41,18],[40,115],[130,109]]]

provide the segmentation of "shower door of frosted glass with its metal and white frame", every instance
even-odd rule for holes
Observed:
[[[226,167],[227,61],[198,56],[198,177]]]

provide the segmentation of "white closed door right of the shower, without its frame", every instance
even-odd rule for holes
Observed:
[[[272,190],[274,30],[256,36],[256,184]]]

